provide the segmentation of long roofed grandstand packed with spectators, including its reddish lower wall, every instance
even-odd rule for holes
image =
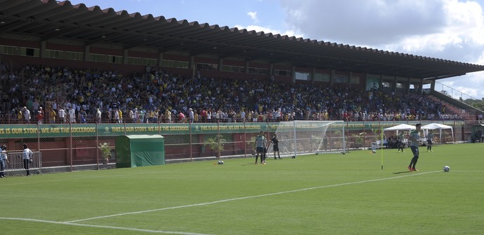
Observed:
[[[13,151],[34,143],[45,167],[99,167],[100,142],[141,133],[128,127],[157,127],[175,141],[167,159],[196,159],[214,153],[208,135],[192,141],[195,123],[258,123],[227,136],[222,155],[245,156],[264,123],[270,132],[285,120],[343,120],[351,138],[376,136],[375,123],[440,122],[467,141],[483,114],[435,90],[436,80],[484,71],[478,64],[69,1],[0,4],[0,141]],[[74,124],[95,131],[55,136]]]

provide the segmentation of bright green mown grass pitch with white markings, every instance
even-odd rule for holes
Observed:
[[[418,172],[406,169],[405,149],[2,178],[0,228],[9,235],[482,234],[483,148],[421,147]]]

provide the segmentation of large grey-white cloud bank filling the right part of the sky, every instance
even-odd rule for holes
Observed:
[[[290,32],[311,39],[484,64],[481,0],[280,2]],[[438,82],[462,94],[484,97],[484,72]]]

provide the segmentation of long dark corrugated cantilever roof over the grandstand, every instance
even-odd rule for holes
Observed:
[[[34,36],[40,41],[113,43],[124,49],[154,48],[189,55],[290,63],[405,78],[440,79],[484,71],[484,66],[389,52],[294,36],[140,15],[70,1],[0,0],[0,37]]]

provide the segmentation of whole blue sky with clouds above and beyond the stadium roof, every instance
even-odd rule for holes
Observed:
[[[484,0],[104,0],[126,10],[484,65]],[[453,97],[484,97],[484,72],[438,80]],[[451,87],[452,90],[449,88]]]

